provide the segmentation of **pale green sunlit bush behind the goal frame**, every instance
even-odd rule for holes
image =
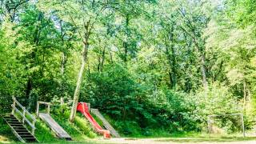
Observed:
[[[186,114],[186,118],[194,123],[202,123],[198,125],[198,129],[202,129],[207,125],[207,117],[212,114],[234,114],[241,113],[242,107],[239,105],[237,99],[230,93],[228,87],[219,83],[214,83],[209,86],[208,90],[198,90],[194,94],[186,97],[186,102],[190,106],[190,112]],[[219,117],[218,126],[226,127],[228,131],[234,130],[240,121],[239,118],[234,117]],[[233,122],[233,127],[230,125],[230,120]],[[241,122],[240,122],[241,124]]]

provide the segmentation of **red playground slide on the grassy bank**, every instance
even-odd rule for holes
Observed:
[[[103,134],[104,138],[110,138],[110,131],[103,130],[102,127],[98,125],[98,122],[96,122],[95,119],[90,115],[86,102],[78,102],[77,110],[81,112],[88,119],[88,121],[94,126],[94,130],[96,130],[100,134]]]

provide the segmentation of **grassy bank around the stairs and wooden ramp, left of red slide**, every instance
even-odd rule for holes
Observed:
[[[74,140],[73,142],[91,143],[90,138],[96,138],[97,134],[90,128],[86,119],[77,116],[74,123],[70,123],[65,115],[57,116],[51,114],[56,122],[63,127],[64,130]],[[38,119],[36,122],[37,130],[35,130],[35,136],[39,142],[43,143],[66,143],[65,140],[55,138],[54,133],[50,130],[44,122]],[[17,142],[14,134],[11,132],[10,127],[6,125],[6,122],[0,118],[0,143],[2,142]]]

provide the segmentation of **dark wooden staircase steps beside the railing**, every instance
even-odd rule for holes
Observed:
[[[18,118],[16,118],[13,114],[2,115],[2,118],[4,118],[15,136],[21,142],[38,142],[37,138],[35,138],[34,135],[31,134],[30,131],[27,130],[26,127],[22,124],[22,122],[19,122]]]

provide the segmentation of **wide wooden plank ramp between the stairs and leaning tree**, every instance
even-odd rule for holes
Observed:
[[[71,140],[70,135],[62,129],[62,126],[59,126],[58,123],[55,122],[53,118],[51,118],[50,114],[39,113],[38,115],[39,118],[41,118],[42,121],[46,122],[46,125],[54,131],[54,134],[56,134],[58,138],[65,138],[66,140]]]

